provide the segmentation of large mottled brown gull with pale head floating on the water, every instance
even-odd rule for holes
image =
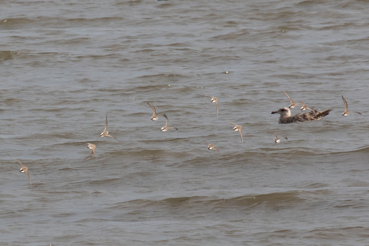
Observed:
[[[312,114],[311,112],[308,112],[308,113],[295,114],[291,116],[290,109],[284,107],[284,108],[280,108],[277,111],[273,111],[272,114],[276,114],[276,113],[280,114],[278,123],[287,124],[287,123],[296,123],[296,122],[304,122],[304,121],[319,121],[324,116],[328,115],[329,112],[331,112],[332,110],[333,108],[330,108],[323,112],[314,110],[315,115]]]

